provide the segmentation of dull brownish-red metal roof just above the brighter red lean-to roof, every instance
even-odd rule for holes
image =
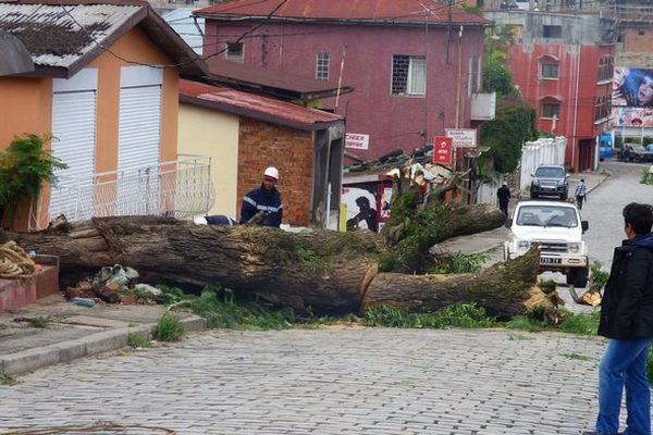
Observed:
[[[218,77],[255,85],[259,88],[266,87],[298,94],[295,98],[308,96],[308,99],[310,99],[331,96],[337,91],[338,87],[336,82],[318,80],[281,71],[231,62],[225,59],[210,58],[207,63],[209,64],[209,72]],[[341,94],[347,94],[352,90],[354,90],[352,86],[341,85]]]

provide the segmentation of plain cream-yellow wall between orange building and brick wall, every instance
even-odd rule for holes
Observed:
[[[211,181],[215,202],[208,214],[235,217],[239,209],[236,195],[238,181],[238,116],[180,104],[178,152],[211,158]]]

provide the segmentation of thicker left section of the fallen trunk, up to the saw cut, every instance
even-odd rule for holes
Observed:
[[[294,309],[358,310],[378,238],[370,232],[286,233],[261,226],[209,226],[162,217],[101,217],[70,232],[5,234],[22,247],[60,256],[63,273],[103,265],[136,269],[141,282],[220,284]]]

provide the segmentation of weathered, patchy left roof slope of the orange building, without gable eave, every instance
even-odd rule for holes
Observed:
[[[0,2],[0,29],[14,35],[37,65],[69,67],[143,7]]]

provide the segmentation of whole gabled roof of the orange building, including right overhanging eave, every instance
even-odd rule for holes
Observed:
[[[25,45],[37,69],[59,72],[48,75],[73,75],[136,26],[174,62],[188,61],[187,74],[204,74],[193,64],[198,57],[145,2],[0,1],[0,30]]]

